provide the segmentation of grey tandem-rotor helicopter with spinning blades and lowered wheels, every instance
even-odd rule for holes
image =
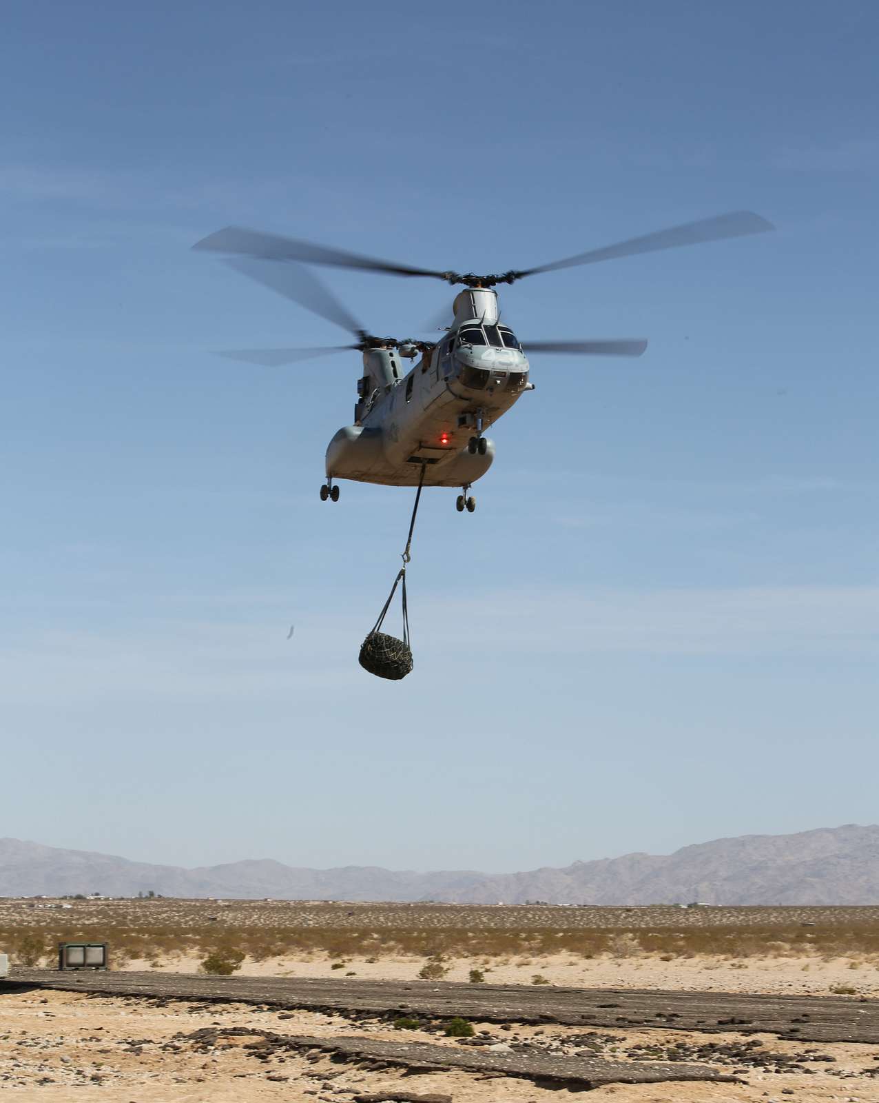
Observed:
[[[326,452],[326,482],[321,499],[338,501],[335,480],[387,486],[460,486],[456,507],[473,513],[470,486],[491,467],[495,445],[485,430],[527,392],[529,353],[574,353],[599,356],[640,356],[644,340],[525,341],[500,322],[495,288],[525,276],[654,253],[683,245],[742,237],[772,229],[771,223],[748,211],[674,226],[616,245],[580,253],[564,260],[500,275],[476,276],[435,271],[379,260],[308,242],[229,226],[198,242],[194,248],[232,255],[229,264],[346,329],[356,340],[339,346],[363,356],[357,384],[354,425],[333,437]],[[247,258],[247,259],[243,259]],[[455,298],[454,321],[438,341],[378,338],[303,265],[328,265],[430,277],[464,286]],[[338,351],[326,349],[241,349],[224,355],[259,364],[286,364]],[[409,371],[403,361],[414,361]]]

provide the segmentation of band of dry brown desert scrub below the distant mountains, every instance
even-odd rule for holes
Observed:
[[[67,907],[62,907],[67,904]],[[403,954],[442,961],[655,955],[817,959],[879,955],[879,908],[564,908],[254,900],[0,900],[0,947],[51,963],[59,941],[108,941],[113,962],[251,961],[326,954],[333,962]]]

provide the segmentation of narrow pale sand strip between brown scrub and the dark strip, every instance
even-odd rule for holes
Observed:
[[[411,981],[424,965],[423,957],[382,956],[345,959],[334,970],[334,959],[326,954],[304,957],[246,960],[240,976],[348,976],[366,981]],[[879,997],[879,962],[835,957],[748,957],[729,961],[723,957],[674,957],[664,962],[658,956],[584,959],[573,954],[538,957],[449,959],[446,981],[467,981],[473,968],[480,968],[490,984],[531,984],[536,975],[550,984],[571,987],[662,988],[670,992],[750,992],[772,995],[826,996],[834,988],[854,988],[859,996]],[[197,957],[169,957],[158,962],[134,959],[113,965],[121,970],[164,973],[197,973]]]

